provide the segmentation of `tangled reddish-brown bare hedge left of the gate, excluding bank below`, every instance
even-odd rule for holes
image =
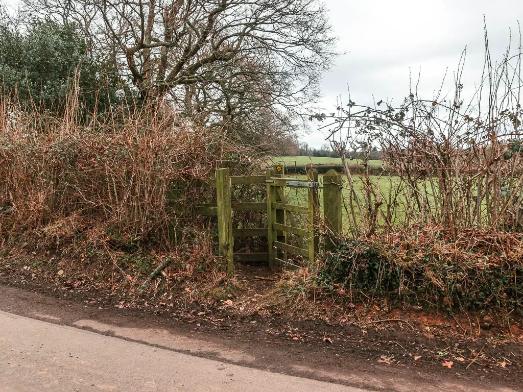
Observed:
[[[168,244],[195,222],[206,190],[169,192],[207,179],[217,167],[253,167],[251,149],[219,129],[181,118],[165,103],[114,108],[77,119],[71,94],[64,118],[0,96],[0,229],[32,230],[58,245],[103,227],[126,246]],[[207,191],[208,192],[208,191]],[[188,201],[188,203],[186,203]],[[175,214],[173,203],[185,214]]]

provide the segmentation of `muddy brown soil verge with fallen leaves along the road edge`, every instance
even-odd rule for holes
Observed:
[[[373,390],[523,390],[520,325],[380,306],[359,323],[289,317],[260,305],[277,276],[263,267],[239,269],[244,290],[215,305],[51,287],[5,270],[0,310],[65,325],[81,319],[132,328],[161,325],[254,358],[235,363]]]

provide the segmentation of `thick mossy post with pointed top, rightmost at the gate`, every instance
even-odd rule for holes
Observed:
[[[331,233],[325,238],[325,251],[333,251],[342,232],[342,176],[333,169],[323,175],[323,214]]]

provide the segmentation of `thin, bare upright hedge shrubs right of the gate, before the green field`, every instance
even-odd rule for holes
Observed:
[[[483,75],[468,98],[461,82],[463,51],[452,95],[440,88],[424,99],[414,84],[398,107],[383,100],[358,105],[349,98],[339,116],[314,116],[329,121],[323,129],[342,159],[350,149],[361,152],[356,173],[344,160],[353,235],[372,235],[379,224],[385,230],[436,225],[453,238],[462,229],[521,230],[521,33],[517,38],[494,62],[485,27]],[[383,169],[394,177],[386,171],[371,176],[369,147],[375,145]]]

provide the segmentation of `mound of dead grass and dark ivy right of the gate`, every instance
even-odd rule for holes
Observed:
[[[296,314],[319,302],[438,308],[444,312],[493,310],[520,317],[523,234],[464,230],[454,239],[439,228],[415,235],[390,233],[343,241],[323,261],[288,272],[274,304]],[[381,305],[380,305],[381,306]]]

